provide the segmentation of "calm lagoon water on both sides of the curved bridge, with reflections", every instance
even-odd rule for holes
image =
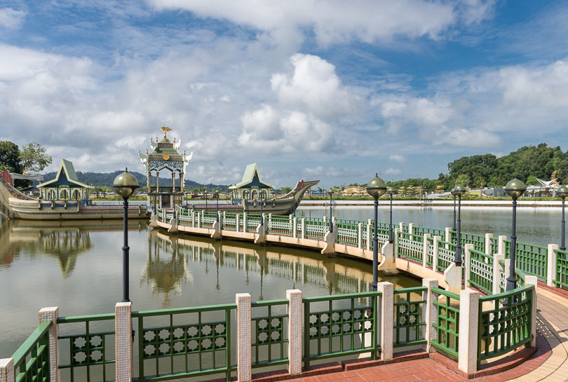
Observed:
[[[301,207],[320,217],[329,208]],[[396,207],[393,221],[444,228],[452,208]],[[334,207],[341,219],[366,220],[372,207]],[[388,209],[379,209],[388,221]],[[462,209],[462,229],[510,236],[510,209]],[[130,221],[130,299],[133,309],[231,303],[238,292],[252,300],[282,299],[285,289],[304,296],[366,291],[370,263],[287,247],[148,231]],[[560,209],[518,209],[518,240],[546,245],[560,240]],[[114,312],[122,299],[122,221],[2,221],[0,227],[0,357],[9,357],[37,325],[37,311],[60,306],[60,315]],[[402,275],[380,280],[419,285]],[[380,281],[379,280],[379,281]]]

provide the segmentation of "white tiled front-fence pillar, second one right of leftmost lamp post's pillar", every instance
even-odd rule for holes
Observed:
[[[302,291],[288,289],[288,373],[302,374]]]

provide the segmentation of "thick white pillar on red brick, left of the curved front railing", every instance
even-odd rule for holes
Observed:
[[[467,374],[478,367],[479,292],[459,292],[458,368]]]

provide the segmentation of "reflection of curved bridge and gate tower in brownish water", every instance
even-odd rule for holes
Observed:
[[[148,234],[147,266],[142,271],[140,282],[151,285],[152,293],[163,296],[163,307],[168,307],[172,295],[182,294],[182,285],[193,282],[191,263],[204,264],[205,273],[215,271],[216,289],[223,282],[219,280],[220,268],[231,268],[231,271],[242,274],[247,285],[250,276],[257,275],[259,290],[250,293],[253,299],[259,301],[264,299],[263,289],[271,287],[264,285],[267,275],[291,280],[290,289],[303,289],[304,285],[309,285],[319,290],[327,289],[329,294],[368,292],[372,282],[371,269],[365,261],[325,257],[286,247],[263,247],[226,240],[189,238],[187,235],[170,236],[158,230]],[[381,280],[393,282],[395,288],[420,284],[419,280],[403,275],[386,276],[379,273],[379,282]],[[285,291],[281,292],[283,297]]]

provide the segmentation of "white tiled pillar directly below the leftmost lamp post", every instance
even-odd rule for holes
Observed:
[[[132,382],[132,301],[114,306],[116,382]]]

